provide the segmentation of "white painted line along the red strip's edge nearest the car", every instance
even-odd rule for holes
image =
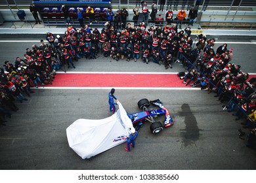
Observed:
[[[38,87],[33,89],[43,89],[43,90],[109,90],[115,88],[118,90],[201,90],[200,88],[160,88],[160,87]]]

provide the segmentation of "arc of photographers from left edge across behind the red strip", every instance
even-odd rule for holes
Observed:
[[[27,48],[24,58],[17,57],[13,64],[5,61],[8,74],[1,69],[1,104],[17,111],[15,100],[27,101],[26,97],[33,93],[31,87],[52,84],[56,70],[75,69],[74,63],[81,58],[95,59],[103,55],[116,61],[141,59],[144,63],[152,61],[163,64],[165,69],[172,68],[171,63],[180,56],[183,42],[187,43],[188,50],[192,48],[190,33],[189,27],[178,33],[175,24],[148,28],[144,22],[134,26],[128,23],[124,29],[106,22],[101,31],[85,25],[80,29],[68,26],[62,36],[47,33],[46,41]],[[5,117],[11,116],[11,112],[2,109],[0,120],[5,125]]]

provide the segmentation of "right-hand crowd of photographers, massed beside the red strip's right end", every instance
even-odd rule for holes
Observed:
[[[178,75],[182,82],[188,86],[197,87],[207,93],[214,91],[219,101],[227,101],[223,105],[223,110],[232,112],[237,107],[238,110],[233,116],[235,120],[240,120],[246,116],[242,122],[244,128],[254,127],[256,122],[256,80],[249,78],[249,74],[242,71],[240,65],[232,63],[233,49],[228,49],[227,44],[214,48],[215,39],[207,39],[204,35],[199,36],[196,48],[192,52],[186,51],[186,43],[179,50],[179,58],[185,72]],[[182,49],[182,48],[185,49]],[[215,88],[215,90],[213,90]]]

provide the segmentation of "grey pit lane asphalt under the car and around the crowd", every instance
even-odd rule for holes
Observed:
[[[24,36],[22,35],[22,39]],[[30,40],[44,39],[31,37]],[[16,40],[17,38],[15,38]],[[26,38],[27,39],[27,38]],[[244,37],[248,42],[256,40]],[[3,40],[2,37],[0,40]],[[8,39],[10,40],[10,39]],[[235,37],[228,40],[236,41]],[[240,42],[241,40],[239,40]],[[35,42],[39,44],[39,42]],[[1,65],[26,52],[33,42],[1,43]],[[234,48],[234,63],[255,73],[255,44],[228,44]],[[215,50],[217,45],[215,46]],[[179,64],[165,70],[163,65],[141,61],[112,61],[100,57],[79,60],[70,71],[178,72]],[[58,75],[57,75],[58,76]],[[148,78],[150,80],[150,78]],[[164,78],[163,78],[164,79]],[[150,124],[140,130],[137,145],[125,152],[125,144],[94,158],[83,160],[68,146],[66,127],[78,118],[101,119],[108,112],[108,90],[34,90],[7,126],[0,127],[0,169],[255,169],[255,150],[239,139],[242,127],[223,111],[214,93],[200,90],[116,90],[127,112],[137,112],[142,98],[161,99],[175,124],[160,134],[150,133]],[[163,121],[163,117],[157,121]],[[243,129],[244,130],[244,129]],[[248,131],[247,129],[244,131]]]

